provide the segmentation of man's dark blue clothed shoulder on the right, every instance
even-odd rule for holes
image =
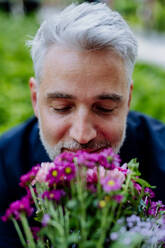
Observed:
[[[130,111],[127,118],[126,138],[120,154],[125,162],[138,158],[145,168],[150,162],[162,168],[161,161],[158,160],[162,160],[164,164],[165,125],[150,116]]]

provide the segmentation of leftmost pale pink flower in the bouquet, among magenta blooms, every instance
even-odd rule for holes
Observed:
[[[32,181],[32,185],[36,182],[43,183],[46,182],[46,177],[50,168],[55,167],[54,163],[41,163],[41,167],[38,170],[35,179]]]

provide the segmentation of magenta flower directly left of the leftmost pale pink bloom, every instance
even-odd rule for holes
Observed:
[[[31,171],[29,171],[27,174],[21,176],[20,178],[20,183],[19,185],[23,188],[27,188],[28,185],[33,181],[33,179],[35,178],[38,170],[40,169],[40,165],[36,165],[34,166]]]

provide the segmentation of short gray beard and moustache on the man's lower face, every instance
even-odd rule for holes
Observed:
[[[43,135],[40,118],[39,118],[38,121],[39,121],[39,134],[40,134],[41,142],[42,142],[42,144],[43,144],[43,146],[44,146],[49,158],[52,161],[56,158],[57,155],[59,155],[62,152],[63,149],[67,149],[67,150],[94,149],[94,150],[97,150],[97,149],[100,149],[100,148],[112,147],[112,149],[114,150],[115,153],[119,153],[120,148],[122,147],[123,142],[125,140],[126,121],[125,121],[124,130],[123,130],[121,140],[120,140],[120,142],[118,142],[118,143],[116,143],[114,145],[111,145],[111,143],[108,142],[108,141],[105,141],[105,142],[102,142],[102,143],[96,143],[96,142],[91,141],[86,145],[82,145],[82,144],[79,144],[78,142],[73,140],[73,141],[69,141],[69,142],[60,141],[55,146],[50,146],[47,143],[47,141],[46,141],[46,139],[45,139],[45,137]]]

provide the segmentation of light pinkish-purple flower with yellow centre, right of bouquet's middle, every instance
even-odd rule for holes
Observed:
[[[116,191],[121,188],[121,182],[118,178],[112,178],[111,176],[106,176],[101,179],[101,185],[105,192]]]

